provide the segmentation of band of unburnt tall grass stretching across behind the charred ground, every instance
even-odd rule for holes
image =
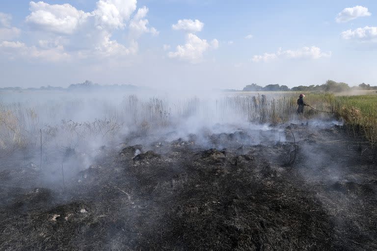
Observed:
[[[118,106],[97,102],[96,107],[100,107],[102,113],[95,113],[98,117],[86,121],[59,117],[84,107],[80,100],[65,106],[49,104],[42,109],[25,107],[19,103],[0,103],[0,150],[38,147],[39,128],[42,128],[44,145],[75,148],[88,141],[111,141],[125,130],[148,131],[175,126],[190,118],[198,124],[203,121],[247,121],[271,125],[311,118],[343,118],[348,126],[360,132],[372,146],[376,146],[377,95],[338,97],[333,94],[308,93],[305,101],[310,106],[334,113],[322,113],[306,107],[301,115],[296,112],[298,93],[278,95],[269,98],[258,94],[231,95],[215,100],[191,98],[174,101],[158,98],[145,100],[131,95],[125,97]]]

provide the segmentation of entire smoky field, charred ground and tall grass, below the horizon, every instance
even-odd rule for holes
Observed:
[[[377,95],[305,95],[0,93],[0,250],[376,250]]]

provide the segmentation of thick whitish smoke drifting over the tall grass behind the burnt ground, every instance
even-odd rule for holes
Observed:
[[[2,151],[16,154],[13,160],[23,165],[41,165],[51,184],[61,179],[61,166],[69,179],[122,143],[143,145],[143,151],[168,144],[275,145],[287,141],[287,124],[300,121],[295,107],[277,94],[23,91],[1,95],[1,110],[12,118],[2,123],[2,135],[12,128],[11,137],[2,139]],[[309,125],[332,124],[314,120]]]

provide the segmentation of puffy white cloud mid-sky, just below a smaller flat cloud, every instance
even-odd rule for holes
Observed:
[[[186,60],[191,63],[197,63],[202,60],[203,53],[209,49],[217,49],[218,41],[214,39],[211,45],[205,39],[200,39],[198,36],[188,33],[186,35],[186,44],[177,46],[175,52],[169,52],[170,58],[178,58]]]

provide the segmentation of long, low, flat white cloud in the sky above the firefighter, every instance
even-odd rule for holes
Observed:
[[[252,57],[253,62],[268,62],[278,58],[285,59],[320,59],[324,57],[330,57],[331,51],[323,52],[316,46],[302,47],[297,50],[279,50],[276,53],[264,53],[263,55],[254,55]]]

